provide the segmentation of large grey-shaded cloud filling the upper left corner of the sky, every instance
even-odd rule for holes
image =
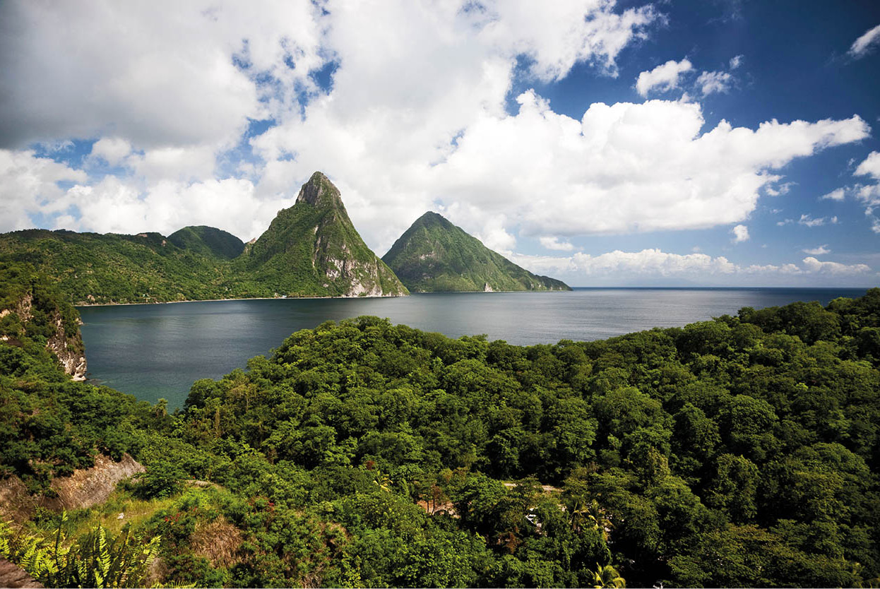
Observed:
[[[271,70],[282,63],[263,54],[280,54],[286,39],[297,58],[319,63],[314,10],[308,3],[260,11],[171,0],[4,3],[0,137],[7,146],[105,134],[138,149],[229,144],[247,117],[267,111],[232,55],[247,40],[254,67]]]

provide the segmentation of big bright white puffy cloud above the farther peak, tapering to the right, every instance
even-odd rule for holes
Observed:
[[[484,215],[503,212],[527,234],[737,223],[755,209],[759,189],[777,178],[769,170],[868,130],[856,116],[771,121],[757,130],[722,121],[700,134],[702,114],[693,103],[597,103],[575,121],[533,92],[518,100],[516,116],[481,117],[429,173],[438,195]]]

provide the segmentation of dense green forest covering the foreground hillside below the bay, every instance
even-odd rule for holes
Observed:
[[[147,474],[61,526],[70,539],[98,524],[121,534],[125,512],[137,537],[160,539],[156,581],[880,576],[880,289],[530,347],[327,322],[246,371],[197,381],[172,416],[0,347],[5,440],[30,440],[14,454],[0,445],[4,472],[40,490],[95,449],[132,453]],[[22,534],[48,546],[58,526],[43,513],[6,532],[13,560]]]

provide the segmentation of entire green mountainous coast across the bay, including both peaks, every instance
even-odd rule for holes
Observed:
[[[407,286],[570,290],[520,268],[436,213],[418,219],[379,259],[348,217],[339,189],[320,172],[300,188],[293,206],[248,243],[204,225],[167,237],[31,229],[0,234],[0,260],[33,264],[77,305],[400,297],[409,294]]]

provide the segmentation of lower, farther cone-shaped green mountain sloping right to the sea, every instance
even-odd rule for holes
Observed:
[[[436,213],[427,212],[382,258],[411,291],[570,291],[484,246]]]

